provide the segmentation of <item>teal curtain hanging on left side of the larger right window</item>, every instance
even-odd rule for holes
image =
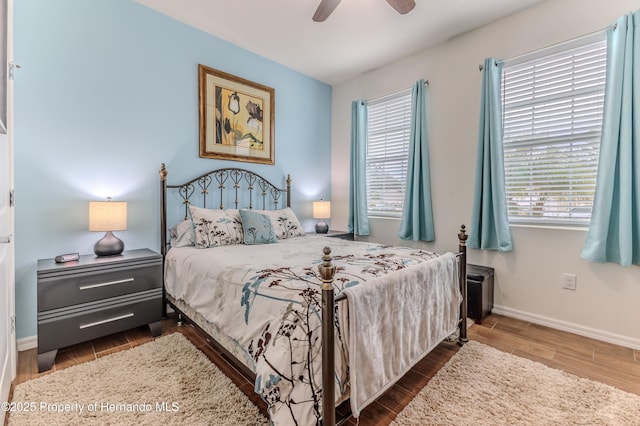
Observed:
[[[487,58],[482,69],[475,191],[467,244],[472,248],[510,251],[511,230],[504,185],[501,77],[502,62]]]

